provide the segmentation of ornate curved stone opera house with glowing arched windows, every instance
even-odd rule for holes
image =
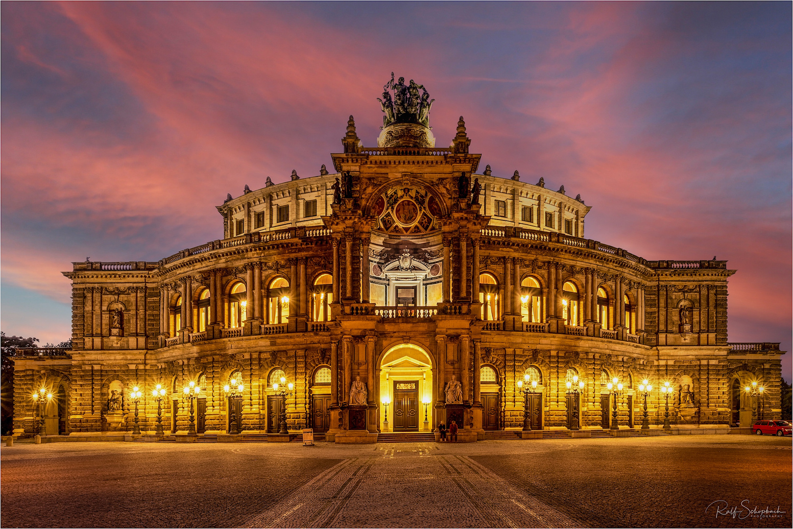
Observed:
[[[350,117],[332,173],[228,195],[221,239],[73,263],[73,347],[17,356],[15,435],[130,432],[136,408],[144,433],[285,419],[336,442],[451,420],[485,439],[524,409],[533,429],[639,427],[645,399],[679,432],[780,417],[779,344],[728,342],[726,261],[586,239],[590,206],[482,170],[462,117],[436,148],[419,88],[385,86],[377,148]]]

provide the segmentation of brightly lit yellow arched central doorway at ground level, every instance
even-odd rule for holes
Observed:
[[[431,431],[435,392],[430,355],[417,345],[400,343],[382,355],[379,369],[381,431]]]

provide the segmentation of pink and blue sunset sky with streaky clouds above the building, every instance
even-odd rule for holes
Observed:
[[[71,262],[222,237],[215,206],[376,144],[391,72],[586,236],[718,259],[730,342],[791,348],[790,2],[2,2],[6,334],[71,333]],[[790,354],[783,374],[790,380]]]

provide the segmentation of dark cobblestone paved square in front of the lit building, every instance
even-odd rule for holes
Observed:
[[[0,454],[3,527],[791,526],[789,438],[17,443]],[[769,508],[783,513],[759,513]]]

